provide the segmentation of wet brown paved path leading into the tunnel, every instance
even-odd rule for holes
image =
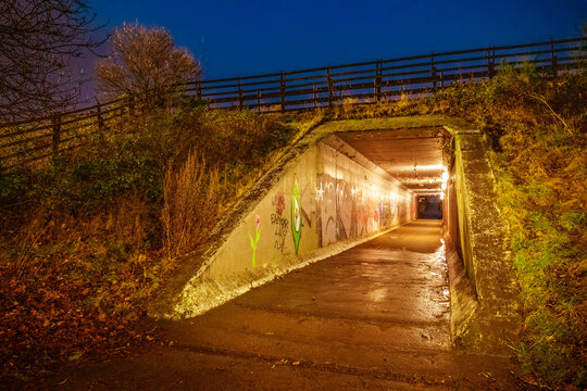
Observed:
[[[165,346],[65,368],[53,381],[104,390],[517,389],[509,358],[451,348],[440,238],[440,220],[407,224],[199,317],[153,321]]]

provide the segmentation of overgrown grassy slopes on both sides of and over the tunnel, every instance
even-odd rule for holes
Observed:
[[[165,176],[185,169],[190,150],[205,157],[204,173],[217,167],[220,177],[214,213],[197,224],[205,232],[319,121],[450,114],[476,124],[494,147],[525,308],[523,341],[514,346],[521,365],[542,382],[585,386],[586,93],[585,74],[554,79],[528,66],[430,99],[348,101],[294,117],[191,108],[115,129],[45,171],[1,177],[4,375],[152,338],[134,327],[141,303],[205,240],[200,235],[170,251],[179,243],[168,240],[161,218]],[[210,189],[212,181],[203,175],[200,184]]]

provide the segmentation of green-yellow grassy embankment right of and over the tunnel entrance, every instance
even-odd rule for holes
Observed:
[[[415,114],[462,117],[484,131],[524,307],[512,349],[528,381],[587,387],[587,71],[553,77],[526,64],[432,98],[342,105],[330,117]]]

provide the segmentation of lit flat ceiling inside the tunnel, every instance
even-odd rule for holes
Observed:
[[[440,191],[445,129],[391,129],[337,135],[416,192]]]

